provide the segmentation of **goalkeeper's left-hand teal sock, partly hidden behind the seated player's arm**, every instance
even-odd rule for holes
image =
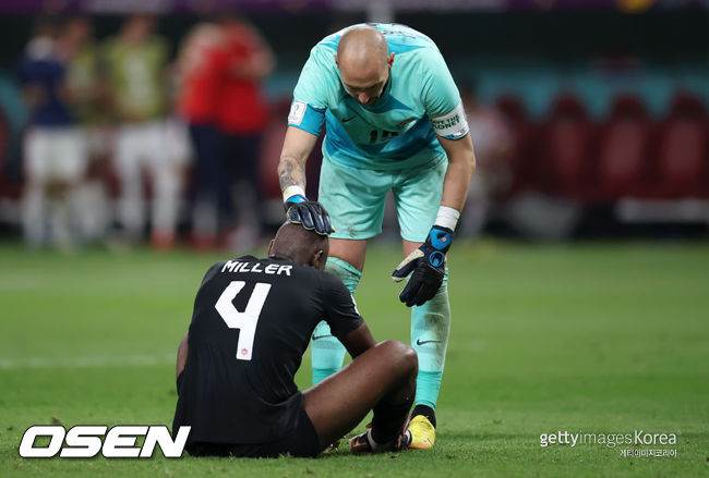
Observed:
[[[337,257],[329,257],[325,270],[337,275],[349,290],[354,290],[362,278],[362,272]],[[313,360],[313,384],[324,380],[343,367],[347,351],[345,346],[333,336],[329,326],[324,320],[315,327],[311,341]]]

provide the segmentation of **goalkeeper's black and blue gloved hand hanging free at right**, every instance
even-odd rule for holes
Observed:
[[[441,225],[434,225],[429,232],[425,243],[409,254],[392,273],[395,282],[400,282],[411,274],[399,301],[407,307],[423,305],[431,299],[443,283],[445,274],[445,255],[453,243],[453,231]]]

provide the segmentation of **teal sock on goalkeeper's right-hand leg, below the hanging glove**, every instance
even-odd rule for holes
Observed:
[[[448,335],[450,304],[448,303],[448,270],[441,289],[420,307],[411,310],[411,346],[419,355],[416,381],[416,404],[435,409],[443,378]]]

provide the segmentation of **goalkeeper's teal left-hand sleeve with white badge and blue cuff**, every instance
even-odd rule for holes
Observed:
[[[331,68],[326,64],[325,53],[315,46],[310,58],[300,72],[298,84],[293,90],[293,102],[290,105],[288,125],[320,135],[325,123],[327,96],[331,85],[328,77]]]

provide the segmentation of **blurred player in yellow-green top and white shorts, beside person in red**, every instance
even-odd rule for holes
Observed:
[[[152,180],[152,243],[170,248],[175,242],[182,163],[166,148],[167,44],[153,34],[154,19],[128,17],[118,37],[107,41],[106,73],[112,107],[120,122],[115,168],[120,182],[118,219],[124,238],[142,237],[144,200],[142,170]]]

